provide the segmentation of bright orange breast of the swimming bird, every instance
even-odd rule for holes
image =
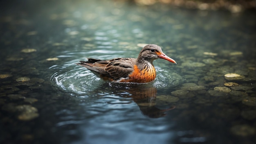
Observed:
[[[134,71],[129,75],[129,79],[123,79],[120,82],[132,83],[148,83],[155,80],[156,72],[153,65],[145,67],[144,70],[139,70],[137,65],[134,65]]]

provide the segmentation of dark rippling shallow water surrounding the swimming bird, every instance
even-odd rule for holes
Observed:
[[[106,0],[7,3],[0,142],[253,144],[254,16]],[[153,83],[108,83],[75,65],[137,57],[145,43],[177,62],[155,60]]]

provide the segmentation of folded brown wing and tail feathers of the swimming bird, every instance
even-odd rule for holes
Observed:
[[[76,63],[93,72],[97,72],[103,76],[108,76],[112,79],[126,78],[133,72],[133,65],[135,65],[135,58],[118,58],[111,60],[88,59],[88,61],[80,61]]]

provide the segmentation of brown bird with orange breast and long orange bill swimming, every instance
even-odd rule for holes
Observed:
[[[88,68],[92,73],[103,79],[115,83],[150,83],[155,80],[156,71],[153,65],[155,59],[164,59],[176,63],[162,52],[160,46],[147,44],[136,58],[116,58],[100,60],[88,58],[79,61],[77,65]]]

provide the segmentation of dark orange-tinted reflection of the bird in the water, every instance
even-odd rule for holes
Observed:
[[[102,87],[109,87],[111,92],[121,94],[123,97],[131,97],[139,106],[141,112],[150,118],[166,116],[165,111],[174,109],[159,109],[156,107],[157,89],[152,84],[136,83],[104,83]]]

